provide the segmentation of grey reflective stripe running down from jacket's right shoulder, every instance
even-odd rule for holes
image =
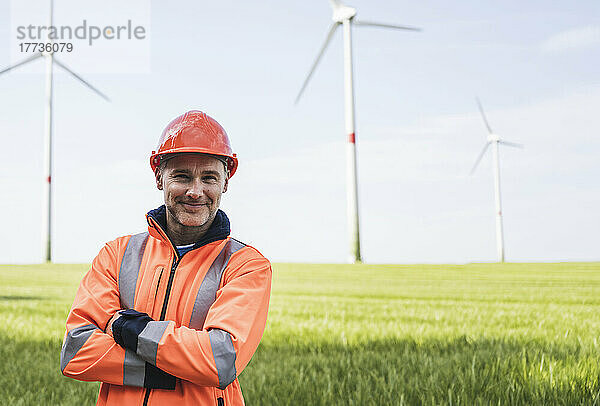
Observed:
[[[227,241],[219,255],[217,255],[217,258],[213,261],[208,272],[206,272],[206,276],[204,276],[204,280],[196,295],[196,301],[194,302],[194,308],[192,309],[192,317],[190,317],[191,328],[202,330],[204,327],[208,309],[210,309],[217,297],[217,290],[221,283],[221,277],[229,263],[231,255],[245,246],[245,244],[238,240],[230,239]]]

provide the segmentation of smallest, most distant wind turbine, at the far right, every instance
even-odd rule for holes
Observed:
[[[471,169],[471,175],[475,172],[477,165],[483,158],[483,155],[487,151],[488,147],[492,145],[492,153],[494,155],[494,186],[496,192],[496,249],[498,251],[498,261],[504,262],[504,231],[502,227],[502,201],[500,198],[500,157],[498,155],[498,146],[500,144],[506,145],[509,147],[523,148],[522,144],[516,144],[514,142],[508,142],[500,139],[500,137],[492,131],[492,127],[487,121],[485,116],[485,112],[483,111],[483,106],[481,105],[481,101],[479,98],[477,100],[477,106],[479,107],[479,112],[481,113],[481,118],[485,123],[485,126],[488,130],[487,142],[483,146],[483,149],[479,153],[477,157],[477,161],[475,161],[475,165],[473,165],[473,169]]]

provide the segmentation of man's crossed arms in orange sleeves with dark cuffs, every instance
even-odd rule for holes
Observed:
[[[67,318],[62,373],[115,385],[173,389],[179,378],[224,389],[250,361],[262,337],[269,262],[260,255],[232,258],[204,327],[195,330],[172,320],[155,321],[134,309],[122,311],[117,263],[123,243],[105,245],[81,281]],[[117,312],[122,314],[115,316]],[[112,334],[106,331],[111,320]]]

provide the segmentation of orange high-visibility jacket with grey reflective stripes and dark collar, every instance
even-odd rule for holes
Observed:
[[[271,265],[229,237],[220,210],[180,258],[164,214],[150,211],[147,233],[117,238],[94,259],[67,318],[62,373],[101,381],[98,405],[243,405],[237,376],[265,328]],[[120,332],[125,348],[104,332],[121,309],[135,310],[124,312],[134,314]]]

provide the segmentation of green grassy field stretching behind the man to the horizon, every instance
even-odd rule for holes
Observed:
[[[93,404],[59,372],[85,265],[0,266],[0,404]],[[600,405],[600,263],[276,264],[248,405]]]

